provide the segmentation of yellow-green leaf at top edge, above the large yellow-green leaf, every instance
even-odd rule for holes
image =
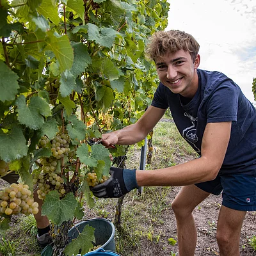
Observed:
[[[54,24],[59,24],[60,17],[58,15],[58,8],[52,5],[51,0],[43,0],[40,6],[37,8],[37,11],[46,19],[49,18]]]

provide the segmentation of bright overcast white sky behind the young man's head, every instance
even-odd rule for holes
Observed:
[[[255,0],[168,0],[169,29],[193,35],[200,44],[200,67],[223,72],[253,103],[256,77]]]

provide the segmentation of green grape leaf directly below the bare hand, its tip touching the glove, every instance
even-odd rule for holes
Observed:
[[[111,166],[111,160],[109,157],[109,150],[108,148],[104,147],[103,145],[92,145],[92,157],[97,160],[103,160],[105,162],[105,166],[103,168],[103,175],[108,175],[109,168]]]

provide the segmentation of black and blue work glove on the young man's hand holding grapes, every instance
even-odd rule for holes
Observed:
[[[120,197],[134,188],[139,188],[136,181],[136,169],[111,167],[111,177],[95,187],[90,187],[93,195],[103,198]]]

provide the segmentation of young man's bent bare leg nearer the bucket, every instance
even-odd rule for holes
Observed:
[[[195,185],[184,186],[172,202],[172,209],[177,221],[179,255],[193,256],[196,248],[196,227],[192,215],[196,205],[200,204],[210,193]]]

